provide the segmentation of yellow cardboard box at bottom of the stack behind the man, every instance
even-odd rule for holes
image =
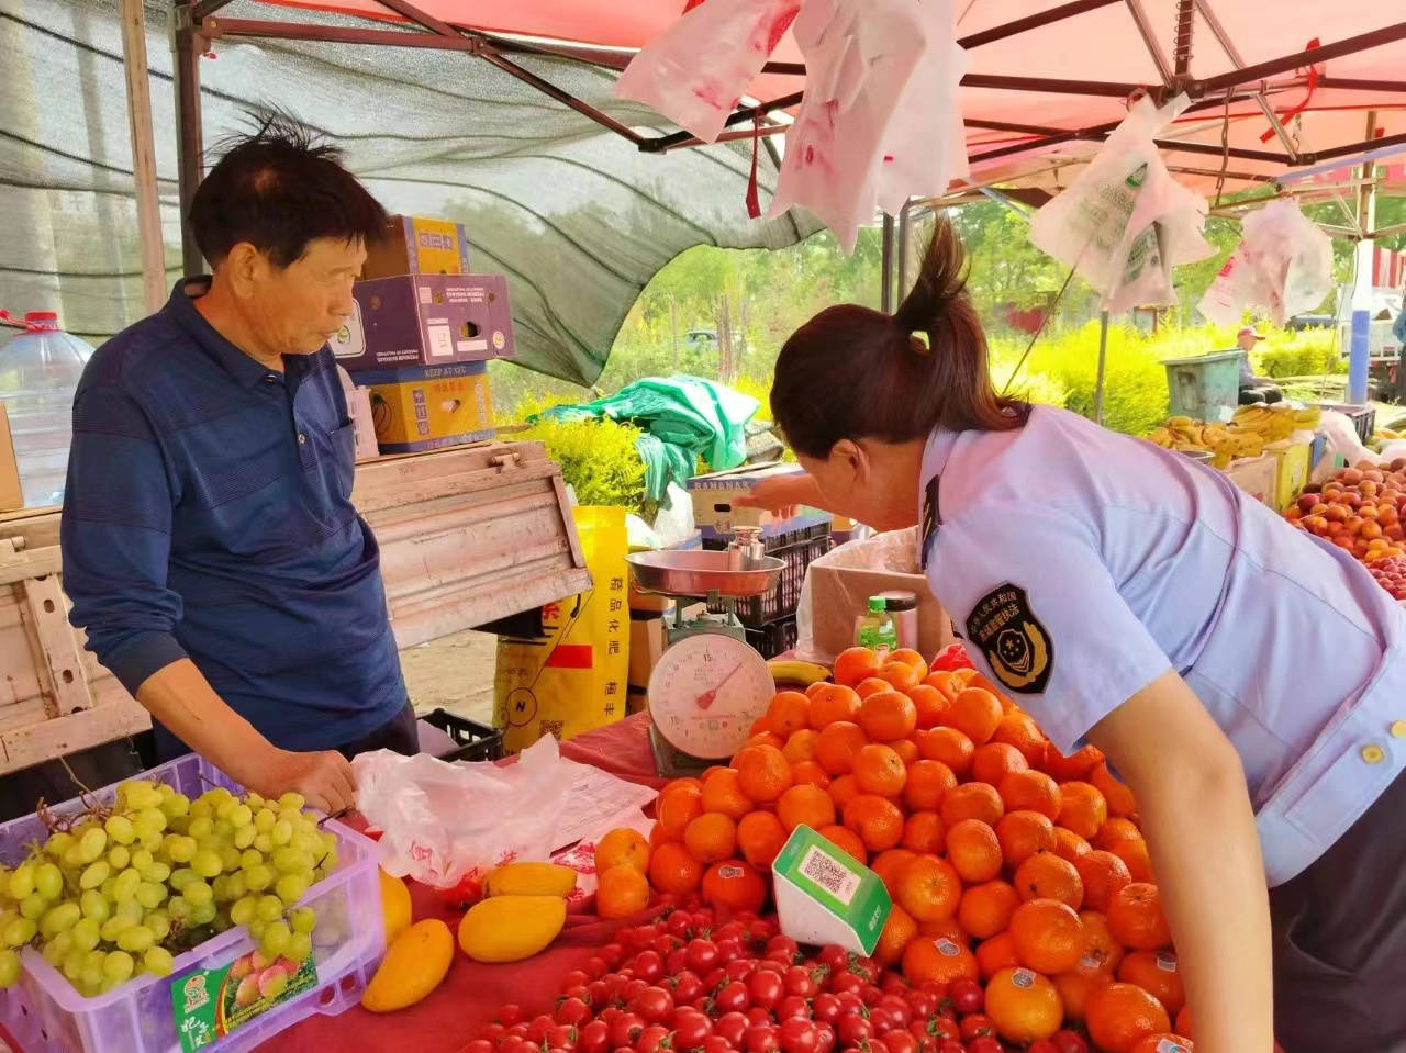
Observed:
[[[494,437],[488,364],[359,373],[371,395],[375,444],[382,454],[441,450]]]

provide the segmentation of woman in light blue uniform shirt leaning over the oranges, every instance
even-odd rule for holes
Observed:
[[[1225,475],[997,396],[960,270],[939,225],[896,316],[792,336],[807,475],[752,503],[921,523],[979,666],[1132,786],[1198,1053],[1406,1050],[1406,614]]]

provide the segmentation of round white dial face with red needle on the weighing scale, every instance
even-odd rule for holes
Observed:
[[[697,633],[665,651],[650,675],[650,718],[689,756],[733,756],[772,696],[766,659],[741,640]]]

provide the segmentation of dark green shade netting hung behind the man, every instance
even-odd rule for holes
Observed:
[[[162,235],[180,276],[170,4],[145,6]],[[226,18],[337,14],[235,0]],[[612,94],[616,72],[555,56],[519,65],[651,134],[673,127]],[[201,60],[207,150],[278,107],[346,150],[392,212],[457,219],[475,273],[506,274],[517,363],[576,384],[599,377],[640,290],[696,245],[779,249],[814,233],[803,214],[747,215],[749,139],[643,153],[468,55],[285,39],[219,41]],[[142,318],[141,254],[115,0],[0,3],[0,306],[58,311],[100,343]],[[762,200],[776,155],[758,155]]]

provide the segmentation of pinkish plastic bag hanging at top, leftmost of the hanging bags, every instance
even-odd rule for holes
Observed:
[[[800,0],[704,0],[650,41],[616,82],[619,98],[713,142],[796,20]]]

